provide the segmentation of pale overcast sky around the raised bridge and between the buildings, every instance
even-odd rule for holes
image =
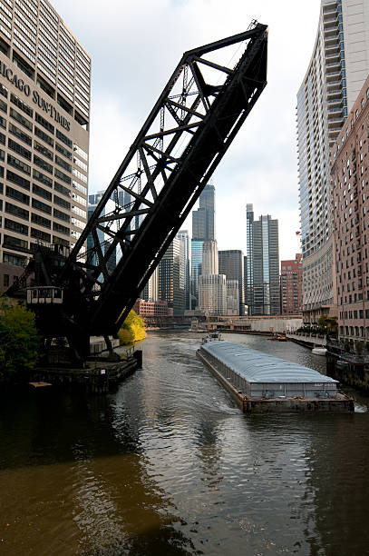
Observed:
[[[186,50],[269,26],[267,87],[213,176],[218,249],[246,254],[246,204],[279,221],[281,259],[299,251],[296,93],[320,0],[52,0],[92,56],[89,191],[105,189]],[[190,222],[188,223],[190,233]]]

